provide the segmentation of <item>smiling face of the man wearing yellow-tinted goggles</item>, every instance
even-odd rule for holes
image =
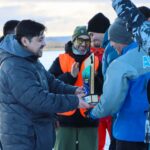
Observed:
[[[87,49],[90,48],[90,37],[87,35],[78,36],[73,45],[81,54],[85,54]]]

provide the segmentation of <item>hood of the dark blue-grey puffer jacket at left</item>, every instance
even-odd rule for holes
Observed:
[[[34,54],[28,51],[26,48],[21,46],[15,38],[15,35],[7,35],[0,43],[0,49],[2,52],[7,52],[9,54],[19,56],[19,57],[29,57]]]

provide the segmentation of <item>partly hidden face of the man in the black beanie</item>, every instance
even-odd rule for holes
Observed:
[[[91,47],[100,48],[104,38],[104,33],[89,32],[91,38]]]

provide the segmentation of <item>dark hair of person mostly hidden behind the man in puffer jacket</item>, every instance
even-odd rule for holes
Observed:
[[[3,27],[3,36],[6,36],[7,34],[10,34],[14,32],[15,27],[19,23],[18,20],[9,20],[4,24]]]

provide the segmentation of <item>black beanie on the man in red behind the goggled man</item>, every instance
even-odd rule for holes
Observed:
[[[102,13],[96,14],[88,22],[88,32],[105,33],[110,22]]]

